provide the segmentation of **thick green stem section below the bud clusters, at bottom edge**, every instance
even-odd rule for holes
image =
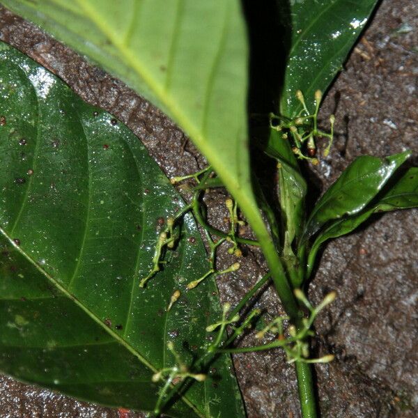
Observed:
[[[316,418],[316,396],[312,365],[304,362],[295,362],[295,369],[302,418]]]

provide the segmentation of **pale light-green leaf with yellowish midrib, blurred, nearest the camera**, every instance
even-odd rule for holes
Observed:
[[[239,0],[2,0],[173,119],[243,208],[247,38]]]

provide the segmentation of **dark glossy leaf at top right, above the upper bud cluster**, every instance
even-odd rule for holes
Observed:
[[[302,109],[295,92],[314,110],[314,92],[326,91],[352,49],[378,0],[291,0],[291,41],[280,114]]]

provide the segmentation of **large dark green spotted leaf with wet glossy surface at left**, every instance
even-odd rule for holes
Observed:
[[[139,288],[159,219],[184,203],[137,137],[5,44],[0,116],[1,371],[152,411],[160,385],[151,376],[175,364],[167,342],[189,364],[221,315],[214,281],[185,291],[208,269],[194,220],[186,217],[164,270]],[[245,416],[230,359],[214,366],[168,416]]]

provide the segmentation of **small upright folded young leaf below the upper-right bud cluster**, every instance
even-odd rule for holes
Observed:
[[[281,138],[281,132],[270,130],[270,137],[265,153],[279,162],[279,200],[282,224],[286,231],[288,251],[291,251],[293,240],[299,239],[304,225],[304,199],[307,194],[307,182],[300,172],[295,154],[289,141]],[[289,253],[288,256],[291,254]]]

